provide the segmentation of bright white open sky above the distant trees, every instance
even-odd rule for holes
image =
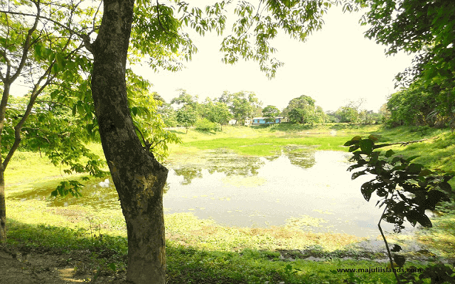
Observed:
[[[324,15],[322,30],[309,36],[306,43],[286,35],[272,43],[278,49],[274,56],[285,63],[277,76],[268,80],[257,62],[224,65],[218,52],[222,37],[208,34],[193,38],[199,52],[180,72],[154,73],[142,67],[139,74],[150,80],[161,97],[170,102],[178,96],[176,89],[206,97],[220,97],[223,91],[251,91],[263,107],[272,104],[279,109],[301,94],[316,99],[324,111],[335,111],[350,101],[365,99],[362,109],[378,111],[395,92],[394,77],[411,65],[412,56],[384,55],[385,47],[364,38],[366,26],[358,20],[362,13],[343,13],[333,7]],[[228,35],[230,30],[225,31]]]

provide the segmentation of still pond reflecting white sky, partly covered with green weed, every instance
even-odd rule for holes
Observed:
[[[346,171],[350,155],[287,146],[272,157],[241,156],[225,150],[179,157],[179,163],[166,165],[170,170],[165,214],[191,212],[228,226],[296,226],[306,231],[377,236],[382,213],[375,207],[378,199],[366,202],[360,193],[360,185],[372,177],[351,180]],[[50,198],[52,190],[15,197],[45,200],[55,207],[120,207],[112,180],[87,185],[79,198]],[[382,224],[392,230],[390,224]]]

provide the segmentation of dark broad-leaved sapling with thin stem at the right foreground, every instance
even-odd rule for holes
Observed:
[[[434,210],[439,202],[450,201],[448,197],[448,194],[451,193],[449,180],[454,177],[454,173],[428,170],[422,164],[412,163],[412,160],[417,158],[416,156],[404,158],[402,155],[395,155],[392,150],[385,153],[374,151],[378,148],[390,146],[390,144],[375,144],[375,141],[378,141],[378,137],[373,135],[368,136],[368,138],[355,136],[344,144],[344,146],[349,146],[350,152],[353,152],[353,157],[350,160],[356,162],[348,168],[350,171],[357,169],[353,173],[352,179],[354,180],[367,173],[375,175],[373,180],[363,183],[360,187],[363,197],[369,201],[374,192],[378,197],[381,197],[376,203],[376,205],[379,204],[379,207],[385,205],[381,219],[395,224],[396,232],[405,228],[403,226],[405,220],[410,222],[412,226],[418,223],[424,227],[431,227],[432,222],[427,216],[426,210]],[[390,253],[390,251],[400,251],[400,246],[394,245],[390,250],[380,223],[378,226],[385,241],[391,267],[393,267],[393,262],[400,267],[403,266],[405,257],[395,254],[392,261]],[[444,279],[444,282],[453,279],[450,276],[454,273],[451,268],[444,266],[441,269],[434,268],[424,271],[419,278]],[[399,276],[396,272],[394,273],[398,282],[401,283]]]

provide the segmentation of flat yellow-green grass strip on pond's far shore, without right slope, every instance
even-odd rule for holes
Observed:
[[[299,124],[275,124],[272,126],[225,126],[218,133],[175,131],[182,138],[181,146],[171,146],[181,153],[184,148],[225,148],[240,155],[277,155],[283,146],[311,147],[317,150],[348,151],[343,144],[356,135],[368,135],[380,126],[326,124],[302,126]],[[194,151],[194,150],[193,150]],[[171,157],[170,157],[171,158]]]

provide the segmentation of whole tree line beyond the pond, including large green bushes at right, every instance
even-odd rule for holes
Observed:
[[[387,124],[387,126],[430,126],[455,128],[455,84],[451,80],[428,83],[416,80],[408,87],[402,87],[391,94],[386,104],[378,112],[364,109],[363,99],[349,102],[336,111],[323,111],[309,96],[301,95],[289,101],[282,111],[275,106],[262,108],[254,92],[223,92],[215,99],[206,98],[198,102],[197,95],[191,95],[181,89],[178,97],[166,103],[161,101],[158,113],[168,127],[196,126],[203,131],[222,130],[231,119],[236,124],[244,125],[247,119],[264,117],[272,122],[277,116],[294,124]],[[156,99],[156,98],[155,98]]]

